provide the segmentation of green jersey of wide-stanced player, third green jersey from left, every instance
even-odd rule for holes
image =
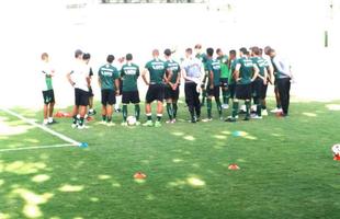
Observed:
[[[145,68],[148,69],[150,73],[151,84],[163,83],[163,77],[167,71],[167,64],[165,61],[159,59],[152,59],[145,65]]]

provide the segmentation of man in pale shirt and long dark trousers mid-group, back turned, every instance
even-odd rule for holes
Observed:
[[[196,123],[201,117],[200,90],[204,78],[202,61],[192,55],[192,48],[185,49],[185,59],[182,62],[183,79],[185,81],[185,102],[191,115],[191,123]]]

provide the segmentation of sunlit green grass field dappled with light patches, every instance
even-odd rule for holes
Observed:
[[[0,219],[340,218],[339,106],[295,101],[288,118],[161,128],[109,128],[98,115],[76,130],[61,118],[52,128],[89,148],[0,152]],[[66,143],[1,111],[0,125],[0,150]]]

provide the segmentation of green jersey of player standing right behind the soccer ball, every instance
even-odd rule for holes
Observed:
[[[138,91],[137,79],[139,77],[139,67],[135,64],[125,64],[121,70],[123,80],[123,91]]]

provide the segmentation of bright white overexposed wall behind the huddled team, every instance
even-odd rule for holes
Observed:
[[[135,60],[144,66],[152,48],[177,47],[180,57],[196,43],[225,50],[272,45],[294,67],[296,95],[340,99],[339,73],[333,70],[339,48],[336,41],[339,15],[329,27],[332,48],[325,49],[322,34],[328,23],[324,0],[227,0],[211,1],[209,5],[90,1],[79,10],[66,10],[66,2],[1,1],[1,105],[39,106],[42,97],[35,76],[43,51],[50,54],[57,68],[54,84],[63,106],[72,103],[72,90],[65,74],[77,48],[92,54],[91,65],[97,69],[110,53],[115,56],[133,53]],[[219,7],[223,10],[217,11]]]

